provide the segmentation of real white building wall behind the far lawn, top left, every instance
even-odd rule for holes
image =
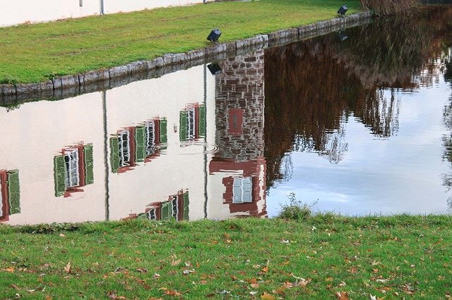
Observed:
[[[2,1],[0,26],[45,22],[101,14],[102,0],[16,0]],[[104,13],[141,11],[146,8],[182,6],[202,0],[104,0]],[[83,6],[81,6],[83,4]]]

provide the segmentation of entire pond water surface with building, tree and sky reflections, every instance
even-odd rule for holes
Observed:
[[[429,8],[1,108],[0,221],[273,217],[290,193],[314,211],[450,213],[451,20]]]

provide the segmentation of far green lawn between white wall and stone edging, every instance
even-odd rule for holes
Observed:
[[[49,77],[124,65],[162,54],[208,46],[211,29],[233,41],[336,17],[359,1],[261,0],[160,8],[51,23],[0,28],[0,83],[41,82]]]

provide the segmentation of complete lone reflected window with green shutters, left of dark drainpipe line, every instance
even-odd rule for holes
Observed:
[[[61,155],[54,157],[54,182],[57,197],[93,184],[93,144],[62,149]]]

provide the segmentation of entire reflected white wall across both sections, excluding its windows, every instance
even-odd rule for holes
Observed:
[[[213,76],[206,77],[208,142],[215,141]],[[210,155],[204,145],[181,147],[179,111],[186,104],[204,102],[204,66],[133,82],[106,92],[107,134],[145,120],[167,118],[167,150],[149,163],[139,163],[126,173],[112,173],[109,165],[109,216],[125,218],[143,213],[148,204],[165,201],[180,189],[189,191],[189,218],[204,217],[205,168]],[[174,127],[177,132],[174,132]],[[0,147],[0,170],[19,170],[21,213],[9,223],[52,223],[105,220],[105,163],[102,93],[60,101],[23,104],[6,112],[0,108],[0,128],[7,132]],[[71,197],[54,196],[54,156],[78,142],[93,143],[94,184]],[[208,148],[211,148],[208,147]],[[109,144],[107,145],[109,152]],[[108,153],[108,163],[109,160]],[[207,159],[207,161],[205,161]],[[222,194],[213,195],[221,201]],[[210,200],[210,199],[209,199]],[[227,212],[227,210],[226,210]]]

